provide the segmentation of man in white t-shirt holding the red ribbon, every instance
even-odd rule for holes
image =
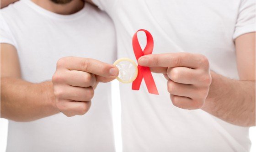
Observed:
[[[153,54],[139,64],[156,72],[159,95],[149,94],[144,81],[138,91],[120,84],[124,152],[249,151],[255,0],[92,1],[114,21],[118,58],[136,61],[137,30],[154,37]],[[138,37],[144,48],[144,33]]]

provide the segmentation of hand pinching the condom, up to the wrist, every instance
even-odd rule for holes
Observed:
[[[57,109],[68,117],[84,115],[90,109],[97,84],[112,81],[117,75],[117,67],[95,59],[59,59],[52,78]]]

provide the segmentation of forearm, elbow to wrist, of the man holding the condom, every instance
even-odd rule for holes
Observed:
[[[2,118],[34,121],[58,112],[51,81],[32,84],[21,79],[1,78]]]

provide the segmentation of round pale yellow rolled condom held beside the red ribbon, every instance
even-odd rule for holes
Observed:
[[[115,61],[114,65],[119,70],[119,74],[116,78],[118,81],[128,84],[137,78],[138,68],[133,60],[129,58],[120,58]]]

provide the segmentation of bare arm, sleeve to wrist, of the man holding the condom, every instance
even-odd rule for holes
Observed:
[[[32,84],[22,80],[15,47],[1,43],[1,117],[33,121],[58,112],[52,82]]]

